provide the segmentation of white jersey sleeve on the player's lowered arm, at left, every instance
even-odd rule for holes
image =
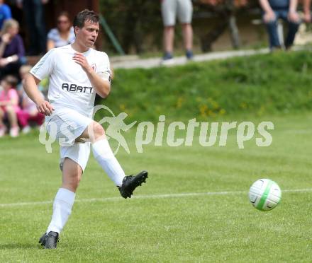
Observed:
[[[47,76],[52,74],[55,65],[55,49],[51,49],[47,54],[45,54],[33,69],[30,70],[30,74],[33,74],[40,81]]]

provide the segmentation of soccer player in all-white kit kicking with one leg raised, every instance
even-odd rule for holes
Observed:
[[[111,151],[103,127],[92,119],[96,93],[106,98],[111,90],[108,56],[91,48],[99,34],[99,16],[94,11],[81,11],[74,18],[73,25],[74,43],[51,49],[23,82],[30,99],[45,114],[50,136],[54,134],[57,139],[62,139],[62,187],[55,196],[50,225],[39,240],[45,248],[57,246],[59,234],[71,214],[90,148],[122,197],[131,197],[133,190],[147,178],[145,171],[136,176],[125,175]],[[37,88],[46,76],[50,78],[49,101],[42,98]],[[85,139],[89,141],[85,142]]]

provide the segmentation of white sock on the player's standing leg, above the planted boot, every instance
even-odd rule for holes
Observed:
[[[53,214],[47,233],[50,231],[60,233],[72,213],[75,193],[65,188],[60,188],[55,195],[53,203]]]

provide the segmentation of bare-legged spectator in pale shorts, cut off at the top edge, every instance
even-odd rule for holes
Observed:
[[[184,47],[187,59],[193,58],[193,29],[191,28],[191,16],[193,6],[191,0],[162,0],[162,21],[164,23],[164,62],[173,58],[174,25],[176,15],[182,24]]]

